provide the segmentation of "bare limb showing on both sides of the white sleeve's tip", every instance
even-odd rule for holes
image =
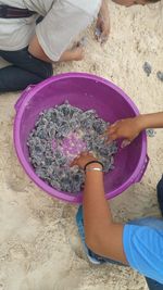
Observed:
[[[29,47],[28,47],[29,53],[35,56],[36,59],[39,59],[45,62],[52,63],[53,61],[48,58],[48,55],[42,50],[41,46],[39,45],[38,38],[35,35],[32,39]],[[60,58],[60,62],[66,62],[66,61],[79,61],[84,56],[84,50],[82,47],[76,47],[74,49],[66,50],[62,53]]]

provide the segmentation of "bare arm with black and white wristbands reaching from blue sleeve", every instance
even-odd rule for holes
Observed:
[[[91,154],[84,153],[74,164],[84,167]],[[101,167],[91,164],[88,167]],[[84,190],[84,225],[86,243],[95,253],[127,264],[123,250],[123,224],[112,220],[111,210],[104,197],[103,173],[87,172]]]

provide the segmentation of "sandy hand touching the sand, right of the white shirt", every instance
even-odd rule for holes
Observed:
[[[96,38],[101,43],[106,42],[110,34],[110,17],[105,0],[103,0],[96,27]]]

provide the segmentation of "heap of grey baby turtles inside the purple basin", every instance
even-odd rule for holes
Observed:
[[[42,111],[27,140],[36,174],[59,191],[79,192],[84,172],[78,166],[70,167],[78,154],[93,153],[103,163],[105,173],[114,168],[117,146],[105,140],[109,125],[95,110],[82,111],[67,101]]]

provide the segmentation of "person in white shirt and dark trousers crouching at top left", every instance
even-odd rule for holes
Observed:
[[[0,92],[48,78],[53,62],[82,60],[83,47],[68,47],[97,15],[103,41],[109,35],[106,0],[0,0],[0,56],[12,64],[0,70]]]

